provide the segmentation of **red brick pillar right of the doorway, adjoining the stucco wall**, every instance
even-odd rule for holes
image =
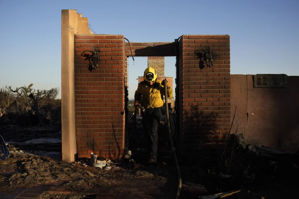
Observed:
[[[180,130],[185,155],[216,155],[230,128],[230,40],[228,35],[183,35],[180,41]],[[199,67],[198,49],[212,47],[213,66]],[[203,58],[202,58],[203,61]],[[182,114],[181,114],[182,113]]]

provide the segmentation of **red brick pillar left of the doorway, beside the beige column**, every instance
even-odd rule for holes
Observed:
[[[124,148],[126,57],[123,35],[75,36],[75,95],[78,157],[93,152],[120,158]],[[88,70],[85,50],[100,52],[99,68]]]

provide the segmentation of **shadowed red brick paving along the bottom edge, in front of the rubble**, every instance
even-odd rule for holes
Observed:
[[[110,172],[112,175],[113,172]],[[82,186],[76,189],[64,187],[68,180],[57,180],[54,183],[12,188],[6,192],[0,192],[1,199],[40,199],[45,194],[60,196],[86,196],[94,198],[175,198],[176,181],[163,183],[155,178],[133,178],[123,181],[119,186],[92,187]]]

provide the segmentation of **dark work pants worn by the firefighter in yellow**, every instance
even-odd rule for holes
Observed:
[[[158,127],[161,121],[161,108],[147,109],[142,117],[142,125],[147,133],[147,143],[150,155],[157,157]]]

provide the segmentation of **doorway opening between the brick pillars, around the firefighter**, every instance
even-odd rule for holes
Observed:
[[[153,67],[157,72],[157,79],[167,79],[173,90],[173,98],[168,99],[168,109],[170,115],[170,124],[172,134],[174,135],[174,106],[176,98],[176,57],[175,56],[149,56],[149,57],[132,57],[127,58],[128,66],[128,115],[126,128],[126,148],[132,152],[138,151],[139,155],[147,153],[148,135],[142,124],[142,114],[140,109],[135,111],[134,95],[138,88],[138,84],[144,80],[143,74],[147,67]],[[170,147],[169,135],[167,131],[166,107],[161,108],[162,117],[158,127],[158,154],[160,157],[167,156],[167,148]],[[169,152],[168,152],[169,153]],[[168,154],[169,155],[169,154]]]

